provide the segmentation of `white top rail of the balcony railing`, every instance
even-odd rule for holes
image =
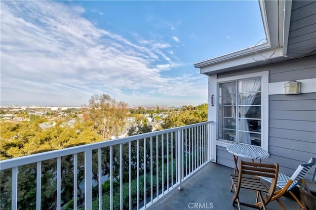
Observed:
[[[144,139],[144,138],[148,138],[151,136],[156,136],[156,135],[174,132],[177,130],[187,129],[190,127],[202,126],[202,125],[206,125],[209,123],[212,123],[212,121],[192,124],[189,126],[174,127],[174,128],[169,128],[169,129],[165,129],[165,130],[158,130],[158,131],[154,131],[154,132],[133,135],[133,136],[125,137],[125,138],[118,138],[118,139],[113,139],[113,140],[101,141],[101,142],[96,142],[96,143],[91,143],[91,144],[68,147],[68,148],[64,148],[64,149],[60,149],[60,150],[53,150],[53,151],[42,152],[42,153],[37,153],[37,154],[33,154],[33,155],[22,156],[22,157],[18,157],[18,158],[7,159],[7,160],[0,161],[0,169],[3,170],[3,169],[7,169],[7,168],[13,168],[13,167],[23,166],[23,165],[27,165],[27,164],[37,163],[39,161],[45,161],[45,160],[49,160],[49,159],[53,159],[53,158],[57,158],[57,157],[62,157],[62,156],[67,156],[67,155],[72,155],[72,154],[76,154],[76,153],[80,153],[80,152],[84,152],[84,151],[89,151],[89,150],[94,150],[94,149],[98,149],[98,148],[113,146],[113,145],[117,145],[120,143],[126,143],[126,142],[134,141],[137,139]]]

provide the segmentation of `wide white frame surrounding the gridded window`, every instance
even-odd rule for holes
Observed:
[[[216,80],[216,98],[219,99],[219,84],[236,82],[238,80],[261,78],[261,148],[269,149],[269,71],[249,73]],[[216,121],[219,123],[219,103],[217,102]],[[216,127],[216,145],[226,147],[232,143],[238,143],[218,139],[219,124]]]

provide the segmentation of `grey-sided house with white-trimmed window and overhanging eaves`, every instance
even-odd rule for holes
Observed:
[[[209,81],[211,157],[233,168],[227,145],[252,144],[292,174],[316,157],[316,1],[259,4],[266,43],[195,64]]]

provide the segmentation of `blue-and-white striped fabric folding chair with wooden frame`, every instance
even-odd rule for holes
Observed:
[[[279,201],[279,198],[284,195],[284,193],[287,191],[289,192],[293,198],[296,200],[296,202],[300,205],[301,209],[304,209],[304,206],[300,202],[300,200],[294,195],[294,193],[291,191],[295,186],[300,187],[300,179],[305,178],[308,171],[316,164],[316,159],[311,158],[310,161],[307,164],[301,164],[299,167],[295,170],[293,175],[291,177],[284,175],[282,173],[278,173],[277,176],[277,182],[276,187],[279,188],[279,190],[275,191],[274,196],[271,198],[271,201],[276,200],[277,203],[282,207],[283,210],[286,210],[284,205]],[[262,179],[272,182],[272,179],[269,177],[261,177]]]

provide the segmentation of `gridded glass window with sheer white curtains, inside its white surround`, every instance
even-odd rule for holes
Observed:
[[[262,77],[218,83],[219,140],[262,146]]]

